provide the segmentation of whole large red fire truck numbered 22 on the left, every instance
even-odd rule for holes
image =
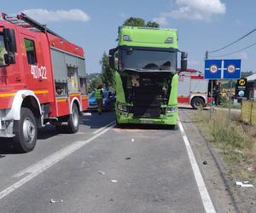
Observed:
[[[0,18],[0,137],[19,152],[46,123],[75,133],[88,106],[84,50],[26,14]]]

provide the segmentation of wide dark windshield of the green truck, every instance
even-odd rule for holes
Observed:
[[[176,72],[177,53],[160,50],[120,49],[120,68]]]

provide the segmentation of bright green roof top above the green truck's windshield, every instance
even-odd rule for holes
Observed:
[[[177,49],[177,30],[122,26],[119,28],[119,45]]]

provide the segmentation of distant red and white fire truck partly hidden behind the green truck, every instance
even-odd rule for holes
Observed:
[[[190,104],[193,108],[204,107],[212,102],[210,81],[200,71],[178,70],[177,102]]]

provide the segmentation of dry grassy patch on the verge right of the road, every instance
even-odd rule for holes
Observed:
[[[228,112],[223,110],[214,111],[211,119],[206,111],[197,111],[193,117],[200,120],[197,126],[201,133],[223,151],[228,163],[250,162],[255,155],[252,138],[239,122],[239,115],[233,114],[230,122]]]

